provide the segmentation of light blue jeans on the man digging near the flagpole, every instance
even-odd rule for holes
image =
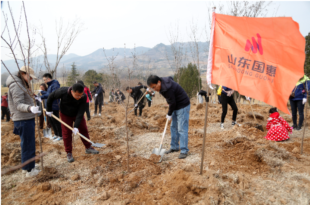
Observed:
[[[186,107],[172,112],[172,122],[170,125],[171,143],[170,149],[179,150],[187,154],[188,149],[188,121],[190,104]],[[180,141],[180,145],[179,145]]]

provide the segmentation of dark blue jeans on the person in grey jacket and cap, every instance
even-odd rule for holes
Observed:
[[[13,133],[20,137],[21,163],[35,157],[35,118],[14,121]],[[23,170],[34,168],[34,161],[22,167]]]

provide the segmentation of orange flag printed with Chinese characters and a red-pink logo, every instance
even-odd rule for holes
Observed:
[[[213,14],[208,84],[226,86],[290,114],[289,96],[304,76],[306,40],[299,24],[291,17]]]

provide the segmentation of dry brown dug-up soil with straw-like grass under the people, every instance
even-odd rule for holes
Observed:
[[[68,163],[63,141],[42,139],[45,173],[26,178],[21,169],[1,176],[1,204],[8,205],[309,205],[310,130],[306,125],[304,154],[302,131],[293,131],[285,142],[269,141],[266,131],[254,128],[248,104],[238,104],[237,122],[231,126],[228,109],[220,129],[222,108],[209,104],[203,174],[199,175],[205,104],[191,104],[186,159],[178,153],[164,155],[162,162],[149,159],[158,148],[166,122],[164,103],[145,107],[142,117],[128,116],[130,173],[124,108],[105,104],[102,116],[87,121],[92,141],[107,144],[98,155],[85,154],[75,136]],[[266,129],[270,106],[253,105],[258,123]],[[93,113],[94,105],[91,103]],[[309,113],[309,110],[308,110]],[[292,125],[292,118],[280,111]],[[86,115],[85,115],[86,116]],[[308,117],[308,123],[310,117]],[[170,125],[170,123],[169,123]],[[20,139],[12,133],[13,122],[1,121],[1,170],[21,163]],[[41,133],[42,136],[43,133]],[[170,147],[167,129],[163,148]],[[39,141],[36,136],[36,150]],[[39,160],[36,161],[38,163]]]

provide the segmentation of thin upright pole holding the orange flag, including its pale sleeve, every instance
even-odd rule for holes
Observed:
[[[215,8],[216,8],[215,6],[212,7],[211,35],[210,35],[209,56],[208,56],[208,67],[207,67],[207,87],[208,87],[208,88],[207,88],[206,109],[205,109],[204,129],[203,129],[203,139],[202,139],[200,175],[202,175],[202,171],[203,171],[205,137],[206,137],[206,132],[207,132],[208,103],[209,103],[209,87],[212,86],[213,34],[214,34],[214,24],[215,24]],[[212,89],[213,89],[213,88],[212,88]]]

